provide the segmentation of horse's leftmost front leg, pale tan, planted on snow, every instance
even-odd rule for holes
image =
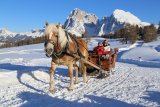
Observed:
[[[50,68],[50,92],[51,93],[54,93],[55,91],[54,71],[56,67],[57,65],[54,62],[51,62],[51,68]]]

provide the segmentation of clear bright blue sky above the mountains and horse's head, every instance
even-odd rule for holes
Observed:
[[[100,19],[122,9],[145,22],[160,21],[160,0],[0,0],[0,28],[26,32],[43,28],[46,21],[64,24],[75,8],[96,14]]]

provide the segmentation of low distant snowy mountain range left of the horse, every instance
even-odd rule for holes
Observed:
[[[42,36],[44,29],[33,29],[31,32],[15,33],[5,28],[0,29],[0,41],[18,41]]]

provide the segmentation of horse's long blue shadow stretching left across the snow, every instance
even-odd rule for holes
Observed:
[[[33,89],[37,92],[44,93],[42,90],[36,89],[34,86],[31,86],[26,82],[23,82],[21,77],[22,77],[23,74],[28,74],[33,79],[35,79],[36,81],[46,83],[46,82],[36,78],[32,71],[40,70],[40,71],[44,71],[46,73],[49,73],[49,67],[46,67],[46,66],[24,66],[24,65],[14,65],[14,64],[10,64],[10,63],[4,63],[4,64],[0,64],[0,69],[17,71],[17,79],[22,85],[25,85],[26,87],[28,87],[30,89]],[[62,76],[67,76],[68,75],[68,69],[57,68],[56,71],[58,71],[58,72],[55,72],[55,74],[58,73],[59,75],[62,75]],[[48,80],[49,80],[49,78],[48,78]],[[48,84],[48,83],[46,83],[46,84]]]

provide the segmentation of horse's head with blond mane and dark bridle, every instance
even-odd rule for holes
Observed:
[[[46,23],[44,36],[46,42],[44,44],[47,57],[51,57],[54,52],[54,47],[63,41],[63,35],[65,35],[62,25],[60,24],[48,24]]]

